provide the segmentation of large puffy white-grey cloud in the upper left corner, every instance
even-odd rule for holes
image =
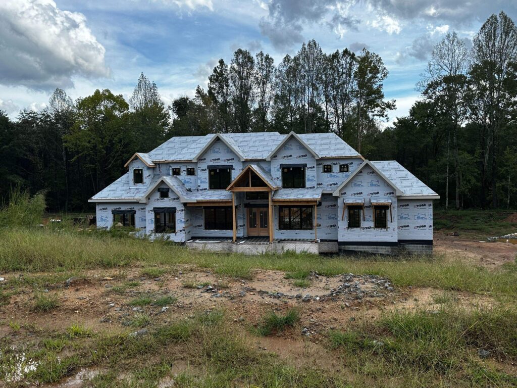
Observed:
[[[105,49],[82,13],[52,0],[0,2],[0,83],[52,89],[73,85],[75,74],[108,77]]]

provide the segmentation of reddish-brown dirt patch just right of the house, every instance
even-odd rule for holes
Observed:
[[[514,262],[517,244],[506,242],[482,242],[467,240],[458,236],[434,236],[434,253],[446,255],[449,259],[460,259],[474,265],[496,267]]]

